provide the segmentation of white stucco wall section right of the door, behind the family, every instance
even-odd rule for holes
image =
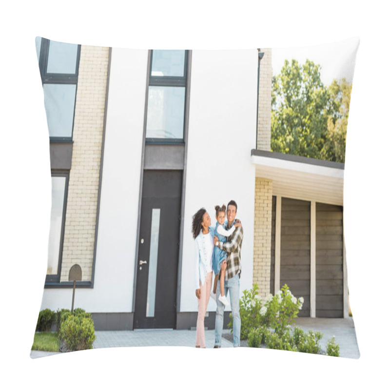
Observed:
[[[234,199],[244,228],[240,290],[252,286],[257,50],[193,51],[180,312],[196,312],[192,216]],[[215,311],[210,300],[208,310]],[[230,305],[226,308],[230,310]]]

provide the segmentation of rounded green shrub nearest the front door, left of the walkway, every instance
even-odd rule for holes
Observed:
[[[65,351],[81,351],[92,349],[95,341],[95,327],[90,313],[78,312],[65,314],[59,329]]]

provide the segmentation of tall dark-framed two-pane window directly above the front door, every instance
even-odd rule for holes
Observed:
[[[153,50],[146,142],[183,142],[187,84],[186,50]]]

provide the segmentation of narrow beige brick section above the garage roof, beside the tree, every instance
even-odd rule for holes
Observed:
[[[272,51],[271,49],[261,49],[260,51],[264,53],[264,56],[260,61],[257,149],[270,151]]]

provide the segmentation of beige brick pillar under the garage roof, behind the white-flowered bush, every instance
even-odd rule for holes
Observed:
[[[262,298],[270,292],[272,180],[256,177],[254,193],[253,283]]]

